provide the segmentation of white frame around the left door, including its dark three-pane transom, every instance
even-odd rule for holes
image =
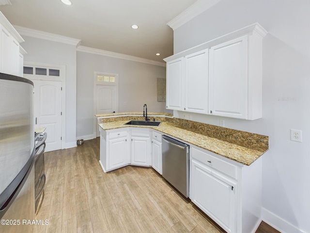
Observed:
[[[65,149],[65,129],[66,129],[66,67],[63,65],[55,65],[55,64],[46,64],[39,62],[28,62],[24,61],[23,67],[33,67],[33,68],[47,68],[47,69],[59,69],[60,76],[49,76],[49,75],[36,75],[36,74],[23,74],[23,77],[30,80],[43,80],[43,81],[61,81],[62,82],[62,116],[61,116],[61,135],[62,135],[62,143],[61,149]]]

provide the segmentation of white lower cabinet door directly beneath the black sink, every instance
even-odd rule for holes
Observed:
[[[139,166],[150,166],[150,145],[149,135],[131,136],[131,164]]]

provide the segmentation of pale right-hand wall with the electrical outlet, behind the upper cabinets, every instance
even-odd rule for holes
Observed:
[[[289,233],[310,233],[309,12],[309,0],[221,0],[174,31],[175,53],[255,22],[268,31],[263,118],[191,117],[214,125],[224,119],[228,128],[269,136],[263,155],[263,220]],[[290,129],[303,131],[303,143],[290,141]]]

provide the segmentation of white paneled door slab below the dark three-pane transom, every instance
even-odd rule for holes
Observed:
[[[34,83],[35,128],[46,127],[46,151],[62,149],[62,82],[32,80]]]

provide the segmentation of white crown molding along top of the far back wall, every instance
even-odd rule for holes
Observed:
[[[111,52],[111,51],[107,51],[107,50],[99,50],[99,49],[94,49],[94,48],[90,48],[90,47],[86,47],[86,46],[78,46],[77,51],[93,53],[93,54],[97,54],[97,55],[101,55],[101,56],[107,56],[107,57],[114,57],[114,58],[134,61],[134,62],[141,62],[141,63],[146,63],[146,64],[150,64],[150,65],[155,65],[155,66],[166,67],[165,62],[157,62],[157,61],[153,61],[153,60],[149,60],[149,59],[145,59],[145,58],[126,55],[123,53]]]

